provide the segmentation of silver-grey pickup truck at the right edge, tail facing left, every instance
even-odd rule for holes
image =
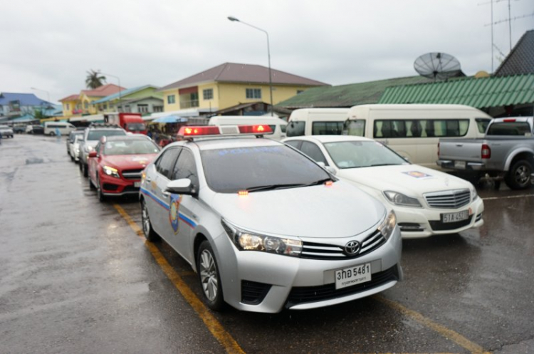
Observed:
[[[437,164],[504,179],[511,189],[526,189],[534,181],[533,117],[495,118],[482,139],[439,140]]]

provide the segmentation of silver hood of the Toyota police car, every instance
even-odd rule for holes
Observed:
[[[249,231],[320,238],[360,234],[386,213],[377,199],[342,181],[246,196],[216,193],[211,205],[224,219]]]

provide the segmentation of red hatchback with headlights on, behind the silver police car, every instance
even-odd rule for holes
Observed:
[[[109,196],[139,194],[141,172],[159,153],[145,135],[102,137],[89,153],[89,186],[103,202]]]

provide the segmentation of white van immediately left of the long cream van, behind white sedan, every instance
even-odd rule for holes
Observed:
[[[288,119],[288,137],[300,135],[340,135],[349,108],[302,108]]]

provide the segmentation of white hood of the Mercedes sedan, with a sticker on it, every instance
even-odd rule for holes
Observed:
[[[409,197],[471,187],[471,184],[464,179],[419,165],[351,168],[339,170],[336,176],[373,189],[408,194]]]

